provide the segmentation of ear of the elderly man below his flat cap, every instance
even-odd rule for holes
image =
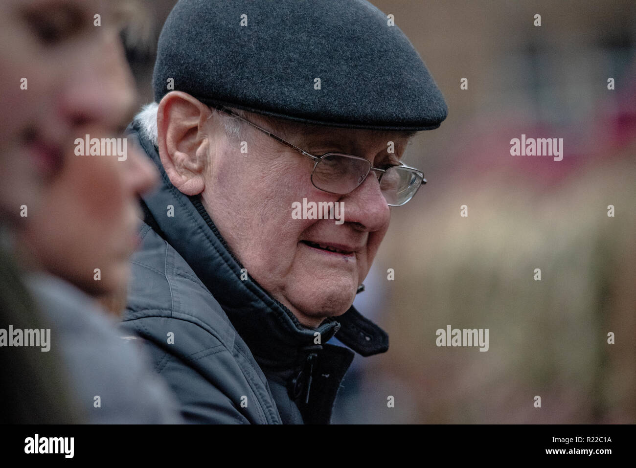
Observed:
[[[172,91],[159,103],[157,144],[163,169],[179,191],[198,195],[205,189],[212,112],[188,93]]]

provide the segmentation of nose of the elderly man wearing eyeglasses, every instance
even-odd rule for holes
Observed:
[[[340,202],[344,203],[345,223],[357,223],[360,230],[382,230],[391,220],[389,205],[373,171],[354,191],[340,198]]]

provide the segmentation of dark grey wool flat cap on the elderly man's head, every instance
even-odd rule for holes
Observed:
[[[364,0],[180,0],[159,38],[155,100],[172,78],[208,105],[332,127],[437,128],[444,98],[389,22]]]

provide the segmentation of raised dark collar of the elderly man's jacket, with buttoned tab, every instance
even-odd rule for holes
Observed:
[[[198,197],[177,190],[163,170],[155,146],[139,132],[136,123],[128,137],[141,147],[160,172],[160,187],[142,197],[144,221],[155,229],[179,254],[219,302],[233,326],[249,346],[257,361],[271,365],[296,361],[314,345],[314,333],[326,343],[338,333],[343,344],[363,356],[385,352],[389,336],[353,306],[339,317],[328,318],[316,329],[304,327],[294,314],[272,298],[249,277],[241,280],[239,261],[216,229]],[[168,207],[174,216],[167,216]]]

